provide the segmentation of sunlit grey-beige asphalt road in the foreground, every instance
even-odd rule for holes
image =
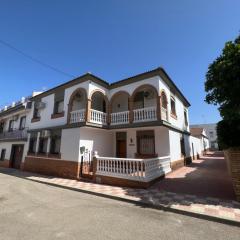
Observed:
[[[240,239],[240,228],[56,188],[0,171],[0,240]]]

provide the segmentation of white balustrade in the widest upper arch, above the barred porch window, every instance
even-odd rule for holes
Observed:
[[[157,120],[157,108],[148,107],[133,110],[134,122],[146,122]]]

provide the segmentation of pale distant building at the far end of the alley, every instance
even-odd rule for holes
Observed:
[[[218,140],[217,140],[217,124],[208,123],[208,124],[194,124],[190,127],[201,127],[206,131],[206,135],[209,139],[209,147],[211,150],[218,150]]]

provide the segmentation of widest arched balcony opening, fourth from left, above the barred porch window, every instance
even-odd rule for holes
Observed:
[[[155,87],[142,85],[131,97],[133,122],[156,121],[159,119],[159,96]]]

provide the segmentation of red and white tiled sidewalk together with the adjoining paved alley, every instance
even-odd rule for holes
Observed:
[[[228,182],[227,184],[225,183],[214,189],[214,186],[216,187],[220,182],[222,183],[224,180],[223,177],[226,176],[217,176],[216,172],[209,176],[209,171],[212,173],[214,172],[213,167],[215,166],[217,168],[215,165],[217,161],[220,161],[222,164],[222,167],[220,167],[222,170],[218,169],[217,171],[226,171],[223,167],[223,157],[216,157],[215,155],[207,156],[201,160],[194,161],[189,166],[170,173],[164,180],[160,180],[149,189],[107,186],[90,182],[48,177],[12,169],[3,170],[3,168],[0,169],[0,173],[11,174],[41,183],[100,196],[127,200],[138,205],[144,204],[146,206],[159,207],[188,215],[198,215],[199,217],[211,218],[219,221],[230,220],[240,224],[240,203],[234,200],[234,195],[231,190],[232,187],[228,185],[229,179],[226,179]],[[196,168],[196,164],[202,165]],[[212,167],[206,170],[209,166]],[[194,171],[195,173],[193,174]],[[200,173],[198,171],[200,171]],[[180,180],[178,183],[177,179],[184,178],[184,173],[188,175],[186,180]],[[172,184],[173,178],[174,184]],[[191,178],[194,180],[193,183],[189,183],[191,182]],[[214,179],[216,183],[214,183]],[[197,183],[199,181],[200,183]],[[230,187],[230,190],[226,189],[226,187]],[[166,191],[168,188],[169,191]],[[207,188],[207,190],[201,188]]]

